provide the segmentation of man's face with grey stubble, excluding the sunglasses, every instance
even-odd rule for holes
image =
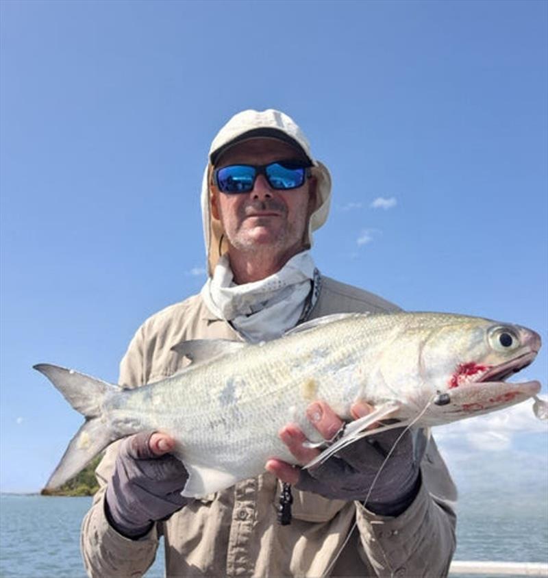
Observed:
[[[278,160],[303,160],[282,140],[254,138],[228,149],[215,168],[230,164],[264,165]],[[221,220],[230,250],[261,251],[269,248],[290,258],[304,249],[308,219],[316,207],[316,181],[275,190],[258,175],[251,192],[227,194],[212,187],[212,214]]]

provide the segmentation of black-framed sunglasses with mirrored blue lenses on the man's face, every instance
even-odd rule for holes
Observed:
[[[255,186],[258,175],[264,175],[271,188],[290,190],[303,186],[309,176],[310,164],[291,160],[278,160],[270,164],[231,164],[216,168],[214,178],[221,192],[234,194],[250,192]]]

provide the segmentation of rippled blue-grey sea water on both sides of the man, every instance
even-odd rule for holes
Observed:
[[[86,578],[79,529],[90,504],[90,498],[0,494],[0,577]],[[160,549],[147,578],[164,575]],[[461,494],[455,558],[548,562],[547,498]]]

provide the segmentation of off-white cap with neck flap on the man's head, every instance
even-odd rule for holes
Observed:
[[[227,243],[221,222],[212,217],[210,210],[210,171],[221,153],[242,140],[270,137],[284,140],[301,151],[312,163],[312,175],[316,177],[319,203],[310,216],[308,223],[308,243],[312,246],[312,231],[319,229],[329,214],[331,200],[331,175],[327,167],[314,159],[308,139],[301,128],[287,114],[279,110],[243,110],[235,114],[221,128],[210,147],[210,162],[203,173],[201,188],[201,210],[203,220],[203,237],[208,256],[208,274],[212,275],[219,257],[227,251]]]

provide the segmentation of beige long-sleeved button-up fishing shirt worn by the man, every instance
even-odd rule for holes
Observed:
[[[309,318],[342,312],[393,312],[379,297],[323,277]],[[160,311],[138,329],[121,362],[120,383],[137,387],[173,375],[184,360],[171,347],[190,339],[240,336],[199,296]],[[281,486],[271,474],[197,499],[155,523],[138,540],[121,536],[105,517],[105,489],[119,442],[97,468],[101,488],[82,524],[82,554],[90,577],[144,575],[164,536],[167,577],[437,577],[455,549],[456,489],[430,440],[421,488],[400,516],[379,516],[359,502],[325,499],[293,489],[292,523],[277,523]],[[333,562],[336,560],[335,562]]]

